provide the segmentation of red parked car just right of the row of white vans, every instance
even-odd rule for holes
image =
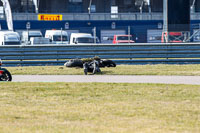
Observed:
[[[134,43],[132,35],[114,35],[113,44],[118,43]]]

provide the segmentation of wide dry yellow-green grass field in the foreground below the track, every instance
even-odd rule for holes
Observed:
[[[2,133],[200,132],[200,86],[0,83]]]

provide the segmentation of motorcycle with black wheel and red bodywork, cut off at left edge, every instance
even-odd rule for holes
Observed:
[[[12,75],[10,72],[1,67],[2,61],[0,60],[0,81],[12,81]]]

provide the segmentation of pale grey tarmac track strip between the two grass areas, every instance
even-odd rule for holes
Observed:
[[[13,75],[13,82],[161,83],[200,85],[200,76]]]

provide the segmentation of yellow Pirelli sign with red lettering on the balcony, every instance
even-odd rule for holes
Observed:
[[[62,21],[62,15],[59,15],[59,14],[39,14],[38,20],[41,20],[41,21]]]

